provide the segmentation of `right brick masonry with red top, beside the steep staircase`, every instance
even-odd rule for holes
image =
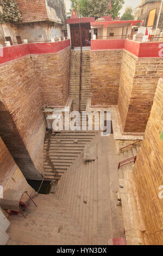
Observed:
[[[122,133],[144,132],[163,72],[159,44],[92,40],[92,45],[91,106],[118,105]]]

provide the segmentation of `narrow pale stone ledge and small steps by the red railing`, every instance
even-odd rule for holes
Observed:
[[[121,153],[118,155],[118,162],[137,156],[140,145],[141,143],[134,144],[122,149]],[[139,196],[135,186],[133,167],[134,162],[131,162],[118,170],[120,182],[118,197],[121,198],[127,245],[144,245],[142,234],[146,228],[143,223]]]

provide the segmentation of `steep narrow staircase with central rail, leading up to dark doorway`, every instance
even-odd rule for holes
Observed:
[[[82,83],[80,92],[80,51],[71,51],[70,96],[73,97],[73,111],[85,111],[87,99],[91,96],[90,51],[82,52]]]

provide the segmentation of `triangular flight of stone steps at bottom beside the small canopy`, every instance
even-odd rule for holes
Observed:
[[[10,216],[8,245],[85,245],[88,237],[53,195],[34,198],[22,215]]]

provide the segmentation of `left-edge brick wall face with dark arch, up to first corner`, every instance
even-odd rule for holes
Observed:
[[[41,179],[45,119],[32,60],[26,56],[1,65],[0,70],[1,100],[5,108],[5,112],[1,111],[1,134],[21,163],[26,178]]]

